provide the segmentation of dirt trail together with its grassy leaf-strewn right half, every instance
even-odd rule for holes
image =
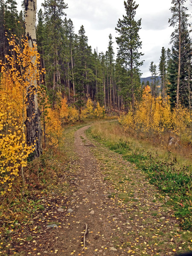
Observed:
[[[88,127],[75,133],[76,192],[70,198],[73,212],[58,255],[165,256],[186,248],[186,232],[182,234],[172,210],[164,207],[166,198],[134,165],[90,142],[84,134]],[[85,223],[88,233],[82,251]]]

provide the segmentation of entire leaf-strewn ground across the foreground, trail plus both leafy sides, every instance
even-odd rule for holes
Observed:
[[[44,210],[32,223],[9,234],[0,255],[173,256],[192,250],[191,233],[179,227],[168,198],[134,164],[87,138],[87,128],[66,130],[70,161],[57,186],[41,198]]]

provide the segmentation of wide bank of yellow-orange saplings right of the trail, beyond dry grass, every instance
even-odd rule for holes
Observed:
[[[170,104],[162,104],[162,99],[151,96],[150,87],[145,87],[143,101],[136,103],[133,111],[129,109],[119,118],[119,123],[125,131],[132,133],[144,133],[152,136],[161,134],[164,131],[172,131],[181,138],[190,141],[192,138],[190,131],[190,116],[187,108],[181,105],[171,111]]]

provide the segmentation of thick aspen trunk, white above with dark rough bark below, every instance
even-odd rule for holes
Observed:
[[[25,0],[25,33],[28,38],[29,47],[37,47],[36,44],[36,0]],[[32,58],[32,64],[35,65],[36,57]],[[37,80],[36,73],[30,81],[30,85],[27,88],[26,96],[26,140],[28,145],[34,146],[34,152],[32,157],[40,157],[42,153],[41,147],[41,111],[38,108],[38,95],[37,95]]]

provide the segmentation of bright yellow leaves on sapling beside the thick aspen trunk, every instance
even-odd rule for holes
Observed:
[[[21,46],[22,45],[22,46]],[[12,48],[6,55],[6,64],[0,62],[0,183],[1,195],[11,191],[14,180],[20,176],[20,170],[26,166],[27,157],[33,151],[26,144],[26,88],[34,74],[39,80],[37,70],[39,55],[30,48],[26,39],[17,44],[9,40]],[[35,56],[35,64],[32,57]]]

